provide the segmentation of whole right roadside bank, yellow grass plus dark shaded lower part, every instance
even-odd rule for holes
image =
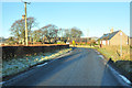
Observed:
[[[122,56],[120,46],[103,46],[101,48],[97,48],[107,61],[110,58],[113,61],[112,65],[120,72],[120,74],[124,75],[128,79],[132,81],[132,57],[131,57],[131,48],[130,46],[122,46]]]

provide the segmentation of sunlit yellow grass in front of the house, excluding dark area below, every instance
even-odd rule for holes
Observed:
[[[101,48],[96,48],[102,55],[107,57],[107,59],[112,58],[113,62],[117,61],[132,61],[130,58],[130,46],[122,46],[122,56],[120,46],[103,46]]]

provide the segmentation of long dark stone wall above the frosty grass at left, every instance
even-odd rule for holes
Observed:
[[[68,48],[69,45],[50,45],[50,46],[1,46],[0,50],[2,50],[2,55],[0,55],[0,58],[8,59],[11,57],[21,57],[25,56],[28,54],[34,54],[34,53],[45,53],[45,52],[52,52],[55,50],[62,50],[62,48]]]

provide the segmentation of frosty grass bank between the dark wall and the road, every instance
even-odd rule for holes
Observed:
[[[67,52],[72,51],[72,48],[64,48],[61,51],[54,51],[48,53],[42,53],[40,55],[28,55],[22,58],[12,58],[9,61],[2,61],[2,77],[15,75],[28,68],[42,64],[45,62],[50,62],[61,55],[66,54]]]

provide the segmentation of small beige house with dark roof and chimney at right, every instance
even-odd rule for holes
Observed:
[[[98,41],[101,45],[129,45],[129,36],[125,35],[121,30],[110,30],[110,33],[103,34]]]

